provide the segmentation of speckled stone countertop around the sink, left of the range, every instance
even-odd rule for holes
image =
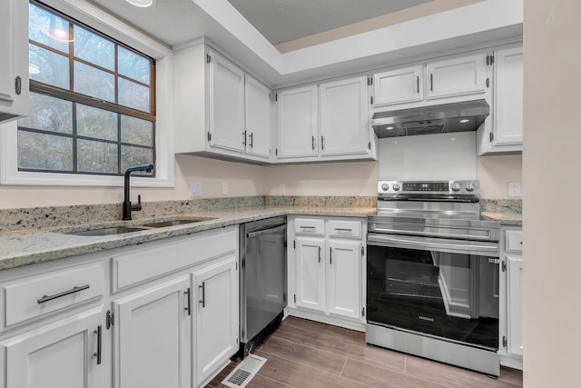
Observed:
[[[147,204],[143,204],[143,213],[135,212],[136,217],[132,221],[118,221],[119,216],[109,218],[107,216],[96,217],[92,223],[78,222],[78,216],[74,219],[74,223],[64,226],[64,223],[57,222],[63,219],[63,214],[55,212],[50,214],[44,209],[44,214],[49,214],[44,219],[50,220],[49,224],[52,226],[44,226],[36,229],[15,229],[9,232],[0,234],[0,270],[14,268],[23,265],[42,263],[54,261],[60,258],[79,255],[90,254],[94,252],[101,252],[107,249],[118,248],[126,245],[141,244],[149,241],[160,240],[184,234],[192,234],[202,232],[204,230],[229,226],[233,224],[243,224],[251,221],[256,221],[264,218],[270,218],[277,215],[288,214],[310,214],[310,215],[329,215],[329,216],[348,216],[348,217],[366,217],[369,214],[375,214],[375,207],[364,207],[360,204],[367,204],[366,201],[357,202],[353,205],[346,206],[340,201],[340,205],[333,206],[333,201],[325,200],[324,206],[311,204],[309,205],[279,205],[267,206],[264,197],[261,197],[260,205],[243,206],[248,204],[248,201],[236,199],[235,204],[223,203],[219,206],[207,205],[205,209],[200,209],[200,204],[188,204],[186,202],[181,204],[168,204],[167,206],[173,208],[172,211],[150,212],[147,211]],[[329,197],[328,197],[329,198]],[[216,200],[219,201],[219,200]],[[252,202],[252,201],[251,201]],[[295,200],[296,202],[296,200]],[[349,203],[349,201],[347,201]],[[238,206],[236,205],[238,204]],[[252,203],[254,204],[254,203]],[[175,206],[182,206],[181,211],[175,211]],[[78,209],[77,209],[78,210]],[[71,211],[73,212],[73,211]],[[91,207],[90,214],[95,214],[96,209]],[[41,215],[40,210],[37,212]],[[71,213],[73,214],[73,213]],[[66,219],[71,214],[64,216]],[[140,214],[137,217],[137,214]],[[35,214],[36,215],[36,214]],[[77,214],[78,215],[78,214]],[[114,214],[116,215],[116,214]],[[145,216],[144,216],[145,215]],[[147,216],[149,215],[149,216]],[[175,226],[168,226],[163,228],[146,229],[129,234],[113,234],[103,236],[82,236],[74,234],[65,234],[67,232],[77,232],[87,229],[99,229],[103,227],[113,226],[129,226],[139,225],[146,221],[164,221],[174,217],[188,218],[188,217],[208,217],[207,221],[202,221],[193,224],[181,224]],[[100,219],[99,219],[100,218]],[[97,221],[98,220],[98,221]],[[35,221],[38,223],[40,221]],[[24,224],[21,222],[20,224]]]

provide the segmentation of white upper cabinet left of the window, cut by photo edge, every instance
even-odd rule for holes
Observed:
[[[28,2],[0,2],[0,122],[29,112]]]

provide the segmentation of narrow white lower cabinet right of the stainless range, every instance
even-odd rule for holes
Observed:
[[[522,369],[523,363],[523,233],[503,226],[500,244],[500,362]]]

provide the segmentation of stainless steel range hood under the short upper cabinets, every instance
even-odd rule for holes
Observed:
[[[371,125],[379,138],[476,131],[490,114],[486,100],[376,112]]]

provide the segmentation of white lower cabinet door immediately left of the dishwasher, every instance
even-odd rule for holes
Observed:
[[[237,257],[196,271],[193,284],[195,386],[200,387],[238,351]]]

